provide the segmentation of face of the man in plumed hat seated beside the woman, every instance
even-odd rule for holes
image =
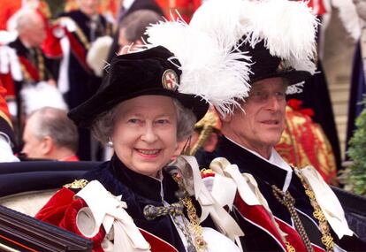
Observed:
[[[249,97],[223,122],[223,132],[233,141],[265,158],[285,128],[286,84],[282,78],[253,83]]]

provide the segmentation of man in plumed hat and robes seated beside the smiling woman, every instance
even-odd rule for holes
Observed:
[[[215,21],[210,24],[212,17]],[[285,128],[286,92],[298,91],[294,84],[316,69],[316,19],[306,4],[211,0],[196,11],[190,26],[221,42],[239,41],[234,50],[248,55],[252,63],[248,97],[223,117],[224,136],[215,156],[225,159],[202,162],[217,172],[212,193],[232,210],[245,233],[243,247],[365,251],[365,244],[349,229],[337,197],[316,170],[294,168],[273,149]],[[232,182],[225,184],[219,179],[223,175]]]

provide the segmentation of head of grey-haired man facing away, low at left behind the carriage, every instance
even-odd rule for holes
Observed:
[[[77,128],[66,111],[44,107],[27,118],[23,152],[29,158],[78,161],[78,139]]]

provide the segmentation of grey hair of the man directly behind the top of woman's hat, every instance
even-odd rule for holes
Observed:
[[[146,41],[148,38],[148,35],[145,34],[146,28],[149,27],[150,24],[156,24],[163,20],[163,17],[155,11],[133,11],[119,24],[119,31],[124,32],[123,35],[128,42],[136,42],[141,40],[141,38]]]

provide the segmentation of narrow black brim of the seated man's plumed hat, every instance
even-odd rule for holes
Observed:
[[[311,74],[306,71],[296,71],[296,70],[282,71],[282,72],[263,74],[258,78],[253,78],[253,80],[251,80],[250,82],[251,84],[253,84],[258,80],[264,80],[276,77],[280,77],[287,80],[288,86],[291,86],[297,83],[301,83],[302,81],[308,80],[311,77]]]

